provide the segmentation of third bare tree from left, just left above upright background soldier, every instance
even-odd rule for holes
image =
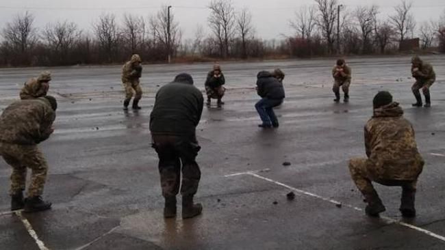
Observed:
[[[119,33],[114,14],[102,14],[97,23],[93,25],[94,33],[99,47],[103,50],[108,62],[111,62],[116,53]]]

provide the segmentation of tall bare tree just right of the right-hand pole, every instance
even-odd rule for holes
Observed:
[[[361,33],[361,52],[370,53],[372,49],[372,32],[374,31],[374,20],[379,13],[377,5],[359,6],[355,9],[354,17]]]

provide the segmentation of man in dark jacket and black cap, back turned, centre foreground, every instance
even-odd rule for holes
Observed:
[[[203,104],[203,94],[193,86],[190,74],[178,74],[175,81],[161,87],[156,94],[150,114],[150,131],[160,160],[165,218],[176,216],[179,187],[183,219],[195,217],[203,210],[201,204],[193,203],[201,178],[195,158],[201,149],[196,141],[196,126],[201,120]]]

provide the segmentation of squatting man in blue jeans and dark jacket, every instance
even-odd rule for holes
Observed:
[[[262,99],[255,104],[255,109],[257,109],[259,117],[263,121],[258,126],[261,128],[272,128],[272,126],[277,128],[279,124],[273,107],[283,103],[285,97],[283,83],[280,83],[270,72],[260,71],[257,74],[257,93]]]

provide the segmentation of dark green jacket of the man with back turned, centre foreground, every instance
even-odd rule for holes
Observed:
[[[168,83],[156,94],[150,114],[153,135],[195,135],[203,112],[203,94],[188,83]]]

